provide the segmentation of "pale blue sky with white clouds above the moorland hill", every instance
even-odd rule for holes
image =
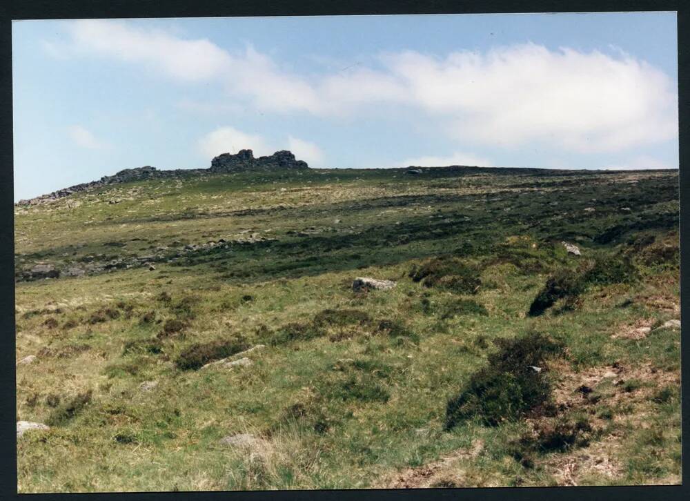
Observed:
[[[14,199],[123,168],[678,168],[675,12],[12,21]]]

